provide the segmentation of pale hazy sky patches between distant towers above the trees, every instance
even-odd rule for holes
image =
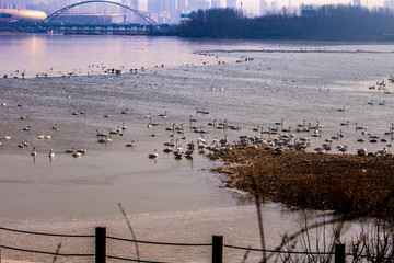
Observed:
[[[188,1],[193,1],[193,0],[188,0]],[[209,0],[208,0],[209,1]],[[225,0],[221,0],[222,4],[225,4]],[[241,5],[241,1],[242,1],[242,7],[244,10],[248,11],[248,12],[253,12],[253,13],[258,13],[259,12],[259,0],[236,0],[237,5]],[[268,4],[273,1],[273,0],[266,0],[268,2]],[[348,4],[348,3],[352,3],[352,0],[277,0],[279,7],[288,7],[289,5],[289,1],[291,2],[291,5],[300,5],[302,3],[305,4],[327,4],[327,3],[333,3],[333,4]],[[146,9],[148,0],[140,0],[141,3],[141,8]],[[384,0],[361,0],[361,4],[362,5],[368,5],[368,7],[382,7],[384,3]]]

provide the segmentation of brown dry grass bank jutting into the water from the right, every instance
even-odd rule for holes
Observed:
[[[235,146],[216,157],[242,165],[215,169],[227,186],[289,207],[335,210],[349,218],[394,215],[394,158],[317,155]]]

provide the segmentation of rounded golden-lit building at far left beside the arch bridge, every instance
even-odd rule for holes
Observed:
[[[0,9],[0,22],[30,22],[45,20],[46,18],[47,14],[43,11],[23,9]]]

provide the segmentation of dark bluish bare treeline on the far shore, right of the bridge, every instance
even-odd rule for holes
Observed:
[[[379,41],[394,34],[386,9],[351,5],[303,5],[300,14],[247,18],[241,10],[208,9],[190,13],[179,26],[186,37]]]

